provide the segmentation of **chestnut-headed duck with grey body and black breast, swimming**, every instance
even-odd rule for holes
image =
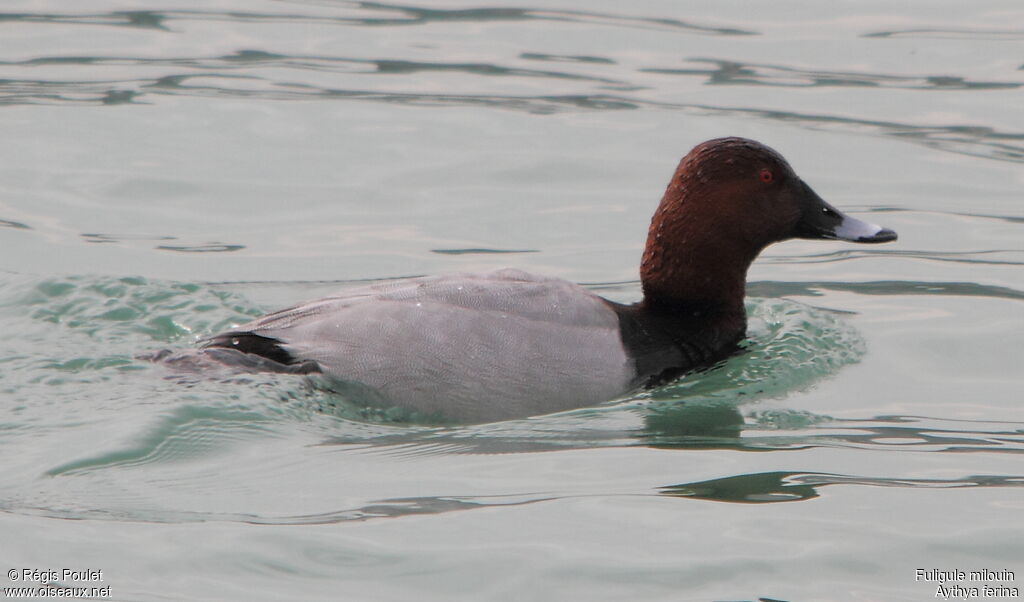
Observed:
[[[512,268],[406,278],[268,313],[197,352],[244,371],[319,374],[359,403],[447,421],[553,414],[736,353],[746,272],[769,245],[896,238],[826,203],[772,148],[716,138],[687,153],[669,181],[635,303]]]

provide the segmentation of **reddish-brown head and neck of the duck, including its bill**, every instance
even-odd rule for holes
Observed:
[[[886,243],[896,232],[825,203],[760,142],[702,142],[680,161],[651,219],[640,266],[644,304],[741,314],[751,263],[790,239]]]

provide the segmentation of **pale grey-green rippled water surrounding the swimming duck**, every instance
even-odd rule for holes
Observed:
[[[8,0],[0,41],[2,568],[116,600],[1024,588],[1018,2]],[[720,135],[900,240],[771,248],[706,374],[436,427],[135,359],[381,278],[635,300]]]

